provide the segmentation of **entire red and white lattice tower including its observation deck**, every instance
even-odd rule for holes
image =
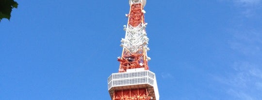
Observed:
[[[147,0],[129,0],[128,24],[124,25],[125,38],[118,73],[108,78],[108,90],[112,100],[159,100],[155,73],[149,71],[147,61],[148,38],[144,14]]]

